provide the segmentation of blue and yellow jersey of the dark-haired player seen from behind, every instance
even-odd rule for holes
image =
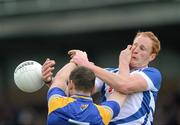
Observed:
[[[115,101],[96,105],[91,97],[66,97],[57,87],[48,91],[48,125],[72,125],[76,122],[78,125],[108,125],[119,111],[119,104]]]

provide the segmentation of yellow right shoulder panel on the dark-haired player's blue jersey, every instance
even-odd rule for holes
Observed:
[[[105,125],[108,125],[109,121],[112,118],[112,111],[108,108],[103,107],[103,106],[99,106],[99,105],[95,105],[95,106],[97,107],[97,109],[100,112],[103,123]]]

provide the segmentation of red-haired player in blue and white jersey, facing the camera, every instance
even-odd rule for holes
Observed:
[[[160,71],[149,67],[149,63],[159,51],[160,41],[154,33],[138,32],[133,44],[120,52],[117,69],[96,66],[80,50],[70,50],[69,54],[72,62],[96,74],[96,91],[102,92],[103,101],[114,90],[128,94],[121,112],[110,125],[151,125],[162,78]]]

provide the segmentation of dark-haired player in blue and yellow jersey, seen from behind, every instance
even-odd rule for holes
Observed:
[[[50,65],[51,61],[46,60],[43,70],[47,70],[49,66],[45,65]],[[43,76],[48,77],[48,74]],[[47,124],[108,125],[120,112],[126,95],[114,92],[108,101],[96,105],[91,98],[94,85],[95,74],[91,70],[74,63],[66,64],[58,71],[48,91]]]

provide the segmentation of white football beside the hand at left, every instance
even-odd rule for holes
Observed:
[[[28,60],[20,63],[14,71],[14,82],[17,87],[28,93],[36,92],[45,84],[42,80],[42,65]]]

